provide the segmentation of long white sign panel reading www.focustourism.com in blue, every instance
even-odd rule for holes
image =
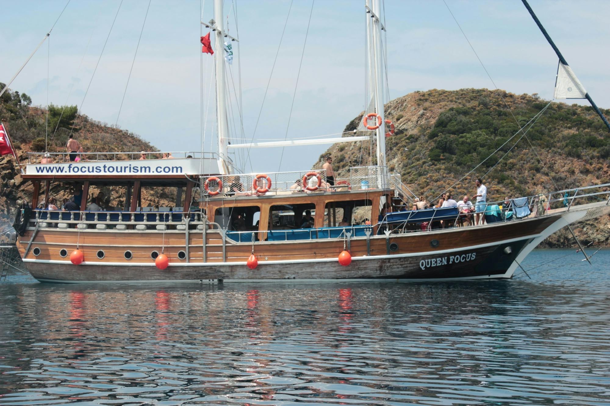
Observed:
[[[136,160],[104,162],[30,163],[27,175],[195,175],[218,173],[215,160],[204,160],[200,168],[198,158],[176,158],[171,160]]]

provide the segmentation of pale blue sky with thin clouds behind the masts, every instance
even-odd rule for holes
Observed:
[[[447,2],[499,88],[551,98],[557,58],[520,1]],[[62,105],[67,98],[67,104],[82,105],[90,118],[114,124],[148,0],[123,2],[84,103],[83,98],[119,3],[71,0],[52,31],[50,49],[45,43],[11,88],[29,94],[35,105],[46,105],[49,52],[49,102]],[[232,1],[224,4],[225,15],[231,13],[229,32],[237,36]],[[284,139],[311,4],[293,3],[255,140]],[[597,104],[610,107],[610,2],[530,4]],[[48,32],[65,1],[0,0],[0,5],[0,82],[5,83]],[[289,6],[289,0],[237,2],[248,140]],[[118,120],[122,129],[165,151],[201,148],[199,7],[199,0],[152,0]],[[390,98],[431,88],[493,88],[442,0],[386,0],[385,10]],[[212,1],[206,0],[204,20],[212,17]],[[364,1],[315,1],[289,138],[339,133],[364,109],[363,44]],[[212,57],[203,56],[207,95]],[[237,80],[237,64],[232,73]],[[215,151],[213,93],[211,100],[205,144]],[[326,148],[287,148],[281,168],[281,148],[253,149],[253,170],[310,168]]]

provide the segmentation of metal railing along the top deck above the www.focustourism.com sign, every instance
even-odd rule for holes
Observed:
[[[87,162],[139,160],[142,154],[148,159],[163,159],[163,154],[171,154],[171,158],[204,158],[217,159],[215,152],[174,152],[174,151],[145,151],[145,152],[75,152],[79,159]],[[47,156],[48,155],[48,156]],[[171,159],[169,158],[169,159]],[[48,159],[49,162],[41,162]],[[168,159],[168,158],[165,158]],[[27,163],[62,163],[70,162],[70,152],[27,152]]]

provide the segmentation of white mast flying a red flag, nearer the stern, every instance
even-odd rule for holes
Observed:
[[[229,162],[229,122],[226,112],[226,93],[224,91],[224,29],[223,29],[223,0],[214,0],[215,24],[215,54],[216,62],[216,121],[218,123],[218,168],[221,174],[230,174]]]

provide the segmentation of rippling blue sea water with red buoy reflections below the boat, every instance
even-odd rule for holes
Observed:
[[[580,255],[451,283],[11,276],[0,405],[610,404],[610,251]]]

